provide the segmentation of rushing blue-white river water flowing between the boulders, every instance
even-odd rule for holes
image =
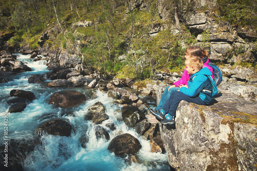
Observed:
[[[48,88],[43,84],[29,84],[28,78],[33,74],[45,74],[46,61],[33,62],[29,59],[30,55],[18,55],[17,61],[23,61],[32,71],[16,74],[7,78],[8,83],[0,84],[0,125],[1,135],[4,135],[4,117],[8,116],[8,139],[29,139],[36,136],[36,128],[45,121],[52,118],[65,118],[71,123],[74,131],[70,137],[44,135],[41,137],[42,143],[35,146],[30,155],[22,163],[25,170],[170,170],[166,154],[151,153],[150,141],[144,140],[134,131],[127,127],[123,121],[120,121],[121,105],[113,103],[114,99],[108,98],[107,93],[96,91],[97,98],[87,100],[85,104],[72,108],[74,116],[63,115],[64,109],[49,105],[48,101],[53,92],[64,90],[63,88]],[[10,91],[21,89],[32,91],[35,94],[35,100],[30,102],[22,112],[8,113],[9,105],[7,100],[10,97]],[[85,88],[69,88],[84,94],[88,93]],[[110,140],[97,139],[95,135],[95,125],[91,121],[84,120],[84,114],[87,108],[96,102],[101,102],[105,107],[105,113],[109,119],[100,126],[105,128],[110,135]],[[70,112],[70,111],[69,111]],[[117,129],[112,131],[105,125],[112,121]],[[117,157],[114,153],[107,150],[109,142],[118,135],[117,131],[131,134],[136,137],[142,148],[138,156],[141,163],[128,164],[126,158]],[[5,132],[6,133],[6,132]],[[89,141],[86,148],[80,144],[81,135],[86,134]],[[1,145],[4,144],[4,136],[1,139]],[[2,161],[1,161],[2,162]],[[11,162],[11,161],[9,161]]]

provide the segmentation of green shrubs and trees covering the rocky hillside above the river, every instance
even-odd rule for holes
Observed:
[[[162,4],[170,10],[169,19],[163,22],[157,0],[144,3],[148,8],[134,8],[131,0],[0,0],[0,30],[1,34],[15,32],[8,42],[14,48],[29,45],[37,49],[42,33],[54,28],[44,46],[74,53],[79,45],[83,64],[94,66],[103,74],[120,73],[144,80],[151,78],[156,69],[181,70],[186,48],[196,43],[194,35],[183,25],[183,17],[203,9],[195,9],[189,0],[163,0]],[[256,28],[256,2],[217,0],[217,3],[219,20]],[[172,34],[175,9],[183,34]],[[75,27],[79,21],[92,22],[93,26]],[[166,28],[153,36],[153,30],[161,29],[160,26]],[[203,36],[203,46],[209,46],[208,30]],[[240,48],[235,53],[240,54]]]

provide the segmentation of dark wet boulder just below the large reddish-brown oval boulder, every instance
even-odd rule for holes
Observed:
[[[44,134],[50,134],[54,136],[66,136],[69,137],[72,130],[72,126],[63,119],[54,119],[40,125],[36,132],[39,136]]]

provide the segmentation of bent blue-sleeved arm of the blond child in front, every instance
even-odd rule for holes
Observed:
[[[199,94],[199,92],[201,92],[201,90],[204,89],[205,87],[204,82],[207,79],[208,78],[206,76],[200,77],[200,75],[196,75],[189,88],[181,87],[179,91],[182,92],[183,94],[186,94],[189,97],[196,97]]]

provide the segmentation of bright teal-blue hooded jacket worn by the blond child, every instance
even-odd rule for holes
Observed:
[[[212,73],[206,67],[200,69],[198,72],[194,74],[191,74],[190,79],[188,81],[188,88],[181,87],[179,91],[186,94],[189,97],[199,96],[201,100],[203,100],[206,104],[209,104],[213,99],[213,87],[207,75],[211,76]]]

